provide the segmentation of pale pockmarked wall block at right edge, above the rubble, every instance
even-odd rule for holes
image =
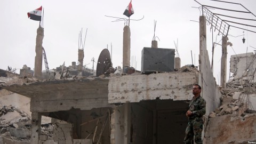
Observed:
[[[254,61],[251,65],[250,63],[254,60],[255,55],[253,53],[243,53],[237,55],[231,55],[230,57],[230,72],[233,73],[234,77],[252,76],[253,71],[256,68],[256,62]],[[249,71],[246,71],[246,69]]]

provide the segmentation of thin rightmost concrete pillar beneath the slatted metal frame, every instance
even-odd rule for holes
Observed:
[[[227,42],[228,37],[222,36],[222,55],[220,67],[220,85],[225,89],[227,83]]]

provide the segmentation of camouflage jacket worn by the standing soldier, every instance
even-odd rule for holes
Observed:
[[[189,102],[189,110],[192,111],[192,115],[189,119],[194,119],[196,117],[203,117],[205,114],[206,102],[205,100],[199,96],[195,100],[194,98]]]

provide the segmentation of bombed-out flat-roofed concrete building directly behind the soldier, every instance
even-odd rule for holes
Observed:
[[[52,118],[51,140],[58,143],[169,143],[170,135],[173,143],[182,143],[193,84],[202,85],[206,115],[220,104],[219,88],[207,69],[206,31],[201,33],[199,70],[21,82],[4,89],[31,98],[31,143],[49,141],[41,135],[42,116]]]

